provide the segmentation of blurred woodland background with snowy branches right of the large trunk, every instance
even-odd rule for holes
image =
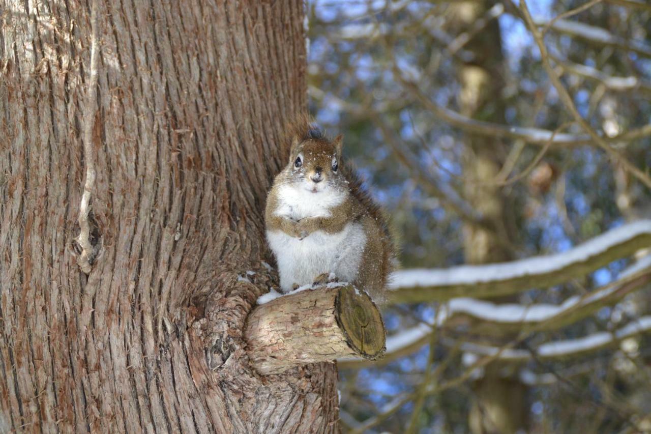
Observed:
[[[651,430],[651,4],[308,8],[311,111],[344,134],[404,269],[385,362],[340,362],[344,430]],[[546,274],[517,261],[536,255]],[[409,274],[507,261],[453,268],[456,289]]]

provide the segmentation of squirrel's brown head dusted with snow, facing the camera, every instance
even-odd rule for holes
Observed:
[[[345,187],[340,171],[342,136],[334,139],[310,122],[294,128],[290,160],[283,170],[283,181],[312,193]]]

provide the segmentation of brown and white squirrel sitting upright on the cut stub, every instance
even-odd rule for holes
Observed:
[[[290,159],[273,181],[265,210],[281,291],[342,281],[384,302],[393,239],[380,207],[344,164],[342,136],[330,139],[301,116],[287,137]]]

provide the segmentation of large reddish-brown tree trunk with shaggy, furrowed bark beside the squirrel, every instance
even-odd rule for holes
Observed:
[[[242,337],[302,1],[92,1],[2,5],[0,431],[337,431],[333,364],[261,377]]]

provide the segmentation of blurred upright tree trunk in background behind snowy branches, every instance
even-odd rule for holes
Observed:
[[[455,3],[457,25],[461,29],[472,27],[487,17],[494,4],[491,0]],[[505,124],[502,96],[505,70],[497,20],[489,20],[465,48],[473,54],[473,61],[458,68],[462,113],[475,119]],[[495,184],[505,159],[503,143],[495,137],[466,134],[465,150],[465,196],[491,228],[465,224],[465,261],[481,264],[513,259],[508,246],[508,227],[512,222],[508,210],[512,207],[506,205],[506,197]],[[526,388],[514,373],[505,372],[499,364],[489,364],[484,377],[473,384],[473,389],[476,396],[469,424],[474,433],[514,433],[526,428]]]

